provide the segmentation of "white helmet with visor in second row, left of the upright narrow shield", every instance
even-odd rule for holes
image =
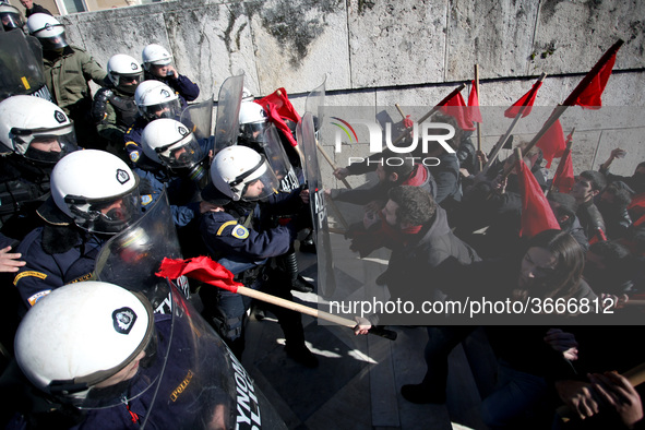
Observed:
[[[148,121],[158,118],[178,118],[181,114],[179,97],[163,82],[143,81],[134,92],[134,103],[142,117]]]

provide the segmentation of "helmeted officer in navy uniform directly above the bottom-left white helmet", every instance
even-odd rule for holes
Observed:
[[[91,278],[101,247],[141,215],[139,178],[105,151],[67,155],[50,184],[51,198],[38,208],[46,224],[17,248],[26,265],[13,284],[27,309],[64,284]]]

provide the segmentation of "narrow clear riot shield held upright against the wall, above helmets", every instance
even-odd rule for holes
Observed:
[[[215,154],[237,143],[243,85],[244,75],[240,74],[228,77],[219,88],[215,121]]]

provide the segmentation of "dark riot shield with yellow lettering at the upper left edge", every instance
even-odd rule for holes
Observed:
[[[51,101],[40,43],[23,32],[0,33],[0,100],[19,94]]]

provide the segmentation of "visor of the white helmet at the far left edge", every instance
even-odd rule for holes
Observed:
[[[72,123],[53,129],[11,129],[16,151],[25,158],[43,164],[56,164],[79,148]]]

